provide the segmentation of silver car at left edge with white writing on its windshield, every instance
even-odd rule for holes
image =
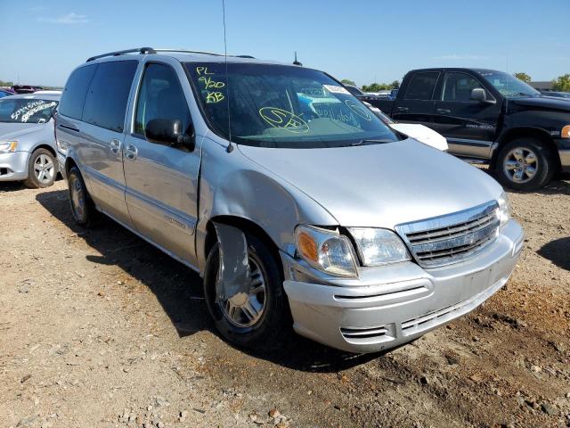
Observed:
[[[54,119],[60,95],[12,95],[0,99],[0,181],[29,188],[57,177]]]

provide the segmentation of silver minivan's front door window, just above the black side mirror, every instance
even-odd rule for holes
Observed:
[[[180,120],[183,130],[190,133],[190,111],[175,70],[153,62],[147,65],[142,76],[134,113],[134,134],[144,136],[144,128],[151,119]]]

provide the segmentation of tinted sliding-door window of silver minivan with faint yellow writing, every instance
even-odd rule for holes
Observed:
[[[136,61],[99,64],[85,100],[85,122],[123,132],[126,103],[137,65]]]

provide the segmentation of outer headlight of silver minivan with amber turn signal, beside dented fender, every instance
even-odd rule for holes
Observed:
[[[357,276],[353,246],[338,231],[297,226],[295,243],[299,256],[313,268],[334,276]]]

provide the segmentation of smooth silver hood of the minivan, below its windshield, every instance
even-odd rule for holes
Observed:
[[[394,228],[472,208],[502,191],[485,172],[411,138],[327,149],[239,148],[321,204],[341,226]]]

